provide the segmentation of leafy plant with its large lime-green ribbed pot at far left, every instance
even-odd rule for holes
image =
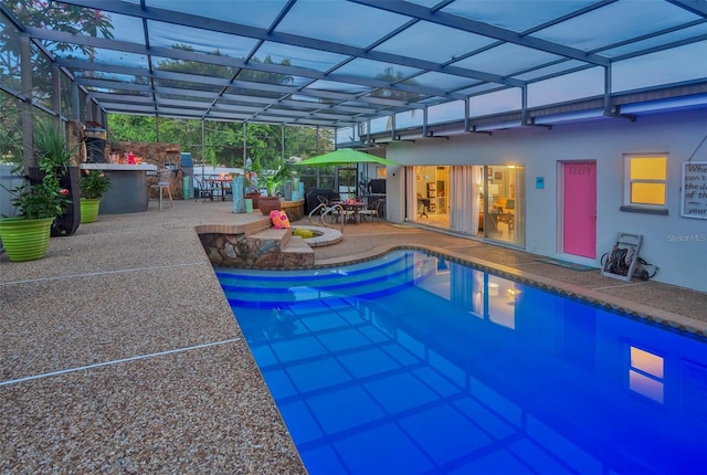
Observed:
[[[68,190],[59,178],[46,173],[42,182],[22,184],[12,190],[12,203],[20,209],[17,218],[0,219],[0,240],[12,262],[42,258],[49,250],[52,223],[64,213]]]

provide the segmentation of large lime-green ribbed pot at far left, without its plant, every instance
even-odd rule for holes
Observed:
[[[28,220],[24,218],[0,219],[0,240],[8,258],[12,262],[42,258],[49,250],[54,218]]]

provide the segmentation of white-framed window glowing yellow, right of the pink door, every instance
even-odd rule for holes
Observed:
[[[667,208],[667,155],[625,155],[624,205]]]

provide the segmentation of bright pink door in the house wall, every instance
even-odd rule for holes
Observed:
[[[597,162],[563,163],[562,251],[597,257]]]

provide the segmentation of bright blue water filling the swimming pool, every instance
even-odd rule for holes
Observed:
[[[413,251],[217,273],[312,475],[707,467],[694,336]]]

